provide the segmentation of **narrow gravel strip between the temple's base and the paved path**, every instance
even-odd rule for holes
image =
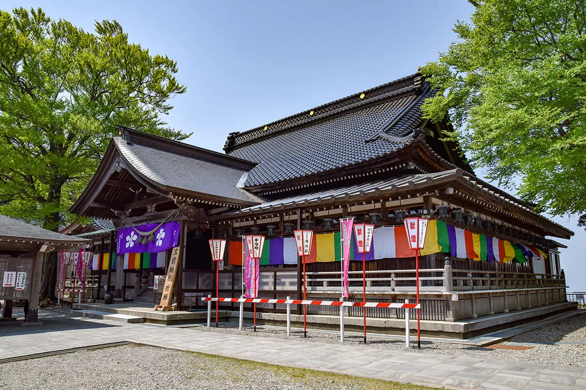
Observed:
[[[584,316],[580,316],[582,319],[586,319]],[[568,319],[567,321],[570,321]],[[567,328],[564,325],[565,321],[560,323],[561,326]],[[233,334],[246,334],[248,336],[257,337],[276,337],[278,339],[294,339],[302,340],[303,331],[292,330],[291,336],[287,336],[287,332],[284,329],[277,327],[257,327],[257,332],[254,333],[251,327],[245,327],[242,332],[238,329],[237,325],[220,325],[220,327],[206,327],[198,326],[192,327],[196,331],[203,332],[224,332]],[[544,329],[544,328],[542,328]],[[539,333],[541,329],[533,330],[528,333]],[[586,324],[581,330],[582,334],[586,332]],[[517,336],[518,337],[518,336]],[[579,336],[578,336],[579,337]],[[339,344],[339,333],[323,333],[323,332],[311,332],[308,331],[306,341],[312,341],[316,343],[327,343],[327,344]],[[586,337],[582,337],[583,341],[586,341]],[[364,347],[363,336],[356,334],[346,334],[344,344]],[[411,336],[411,343],[417,341],[417,336]],[[557,341],[557,340],[555,340]],[[525,341],[526,342],[526,341]],[[404,339],[390,339],[389,337],[376,337],[369,336],[366,347],[382,348],[389,350],[406,350],[404,347]],[[415,345],[415,344],[411,344]],[[532,346],[531,349],[525,351],[512,351],[512,350],[500,350],[492,348],[474,347],[465,344],[455,343],[434,343],[431,341],[421,341],[421,350],[417,348],[410,348],[410,352],[418,353],[434,353],[434,354],[445,354],[452,356],[470,356],[483,359],[498,359],[498,360],[515,360],[515,361],[527,361],[541,364],[561,364],[561,365],[575,365],[579,367],[586,367],[586,345],[563,345],[563,346],[551,346],[551,345],[540,345]]]

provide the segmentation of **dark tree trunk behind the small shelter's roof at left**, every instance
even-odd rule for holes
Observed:
[[[63,187],[64,180],[62,178],[56,178],[53,184],[49,186],[49,196],[47,197],[47,204],[54,207],[55,212],[45,216],[43,221],[43,228],[47,230],[53,230],[53,232],[59,231],[59,206],[61,201],[61,188]],[[50,299],[51,301],[57,301],[55,296],[55,285],[57,283],[57,251],[51,251],[45,253],[43,257],[43,277],[40,283],[40,295],[39,301],[43,299]]]

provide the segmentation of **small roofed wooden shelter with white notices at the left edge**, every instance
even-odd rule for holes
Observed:
[[[0,299],[6,301],[2,317],[12,318],[12,302],[19,299],[29,302],[25,322],[38,322],[45,253],[80,249],[88,244],[91,244],[90,240],[66,236],[0,215]]]

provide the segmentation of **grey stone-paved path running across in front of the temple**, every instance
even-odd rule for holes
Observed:
[[[74,314],[73,314],[74,315]],[[454,389],[586,390],[586,368],[197,332],[43,313],[45,327],[0,328],[0,359],[96,344],[152,346]]]

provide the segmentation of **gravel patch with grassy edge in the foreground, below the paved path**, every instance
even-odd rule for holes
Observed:
[[[431,390],[199,353],[123,346],[0,364],[0,389]]]

